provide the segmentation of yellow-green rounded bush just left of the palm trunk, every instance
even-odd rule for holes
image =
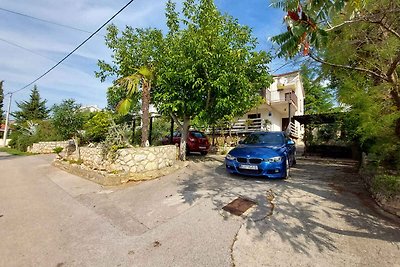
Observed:
[[[102,142],[106,139],[108,128],[111,125],[111,114],[100,111],[93,114],[84,125],[85,138],[88,142]]]

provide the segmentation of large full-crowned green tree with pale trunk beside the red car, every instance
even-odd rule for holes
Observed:
[[[259,103],[259,91],[272,81],[270,57],[256,52],[251,30],[222,15],[212,0],[184,1],[182,18],[175,4],[166,8],[169,32],[157,69],[153,99],[182,131],[180,158],[195,118],[215,124]]]

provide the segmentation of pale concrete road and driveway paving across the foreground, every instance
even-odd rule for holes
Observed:
[[[172,175],[106,188],[0,153],[0,266],[400,266],[400,224],[352,162],[299,160],[286,181],[192,157]],[[257,202],[245,216],[222,207]]]

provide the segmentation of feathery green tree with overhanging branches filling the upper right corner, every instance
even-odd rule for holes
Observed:
[[[349,106],[361,141],[382,158],[400,147],[399,2],[276,1],[288,31],[275,36],[280,56],[298,52],[321,64]],[[375,147],[375,148],[374,148]],[[387,148],[387,149],[386,149]],[[393,160],[391,160],[393,162]]]

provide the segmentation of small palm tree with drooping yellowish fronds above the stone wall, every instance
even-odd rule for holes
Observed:
[[[152,81],[154,80],[154,69],[149,66],[142,66],[136,69],[132,75],[122,77],[117,80],[120,86],[127,89],[126,98],[123,99],[117,107],[121,114],[127,114],[134,104],[132,97],[135,93],[142,89],[142,139],[140,145],[146,146],[149,139],[149,106],[150,106],[150,90]],[[133,129],[135,130],[135,129]]]

